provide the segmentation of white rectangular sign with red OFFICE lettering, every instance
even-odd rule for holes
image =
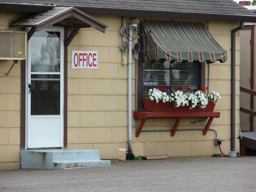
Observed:
[[[72,51],[73,69],[97,69],[98,52],[97,51]]]

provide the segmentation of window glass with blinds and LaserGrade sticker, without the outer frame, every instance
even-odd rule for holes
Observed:
[[[188,61],[166,61],[161,59],[158,62],[151,60],[143,63],[143,98],[148,97],[151,88],[163,87],[170,93],[175,87],[182,87],[184,90],[199,88],[198,61],[189,63]]]

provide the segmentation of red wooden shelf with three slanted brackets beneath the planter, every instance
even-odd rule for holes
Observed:
[[[203,135],[206,135],[212,120],[214,117],[219,118],[220,112],[144,112],[144,111],[134,111],[133,117],[141,119],[139,127],[135,133],[135,137],[139,137],[142,127],[147,118],[151,117],[176,117],[175,124],[173,125],[171,131],[171,137],[175,135],[175,132],[180,124],[181,117],[209,117],[207,124],[205,125]]]

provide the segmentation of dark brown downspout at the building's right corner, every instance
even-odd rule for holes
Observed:
[[[236,151],[236,32],[244,28],[244,22],[239,27],[231,30],[231,151]]]

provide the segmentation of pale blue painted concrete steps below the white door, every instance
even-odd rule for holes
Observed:
[[[35,149],[20,150],[21,169],[71,169],[109,166],[100,160],[99,150]]]

